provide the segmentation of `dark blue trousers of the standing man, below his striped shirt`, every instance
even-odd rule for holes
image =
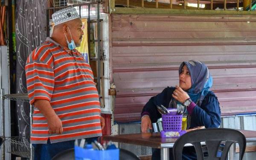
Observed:
[[[87,138],[88,144],[97,140],[98,137]],[[34,147],[34,160],[51,160],[56,154],[65,151],[70,148],[74,148],[75,140],[50,143],[48,139],[47,144],[32,144]]]

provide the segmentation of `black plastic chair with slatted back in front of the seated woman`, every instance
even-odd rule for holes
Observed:
[[[205,142],[206,145],[201,145]],[[181,160],[185,144],[195,147],[197,160],[227,160],[227,154],[233,143],[239,143],[239,160],[242,160],[246,147],[244,134],[235,129],[209,128],[198,129],[183,134],[173,146],[174,160]]]

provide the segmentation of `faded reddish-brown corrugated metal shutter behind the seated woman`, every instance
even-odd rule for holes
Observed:
[[[139,120],[190,59],[209,67],[223,115],[256,112],[255,16],[112,15],[110,29],[114,120]]]

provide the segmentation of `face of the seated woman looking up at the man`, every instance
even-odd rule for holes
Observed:
[[[183,90],[188,90],[189,88],[191,88],[191,76],[186,65],[182,67],[182,71],[180,73],[179,78],[180,88],[182,88]]]

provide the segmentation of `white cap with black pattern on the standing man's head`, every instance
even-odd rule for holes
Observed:
[[[80,17],[74,7],[64,8],[52,14],[54,26],[76,18]]]

